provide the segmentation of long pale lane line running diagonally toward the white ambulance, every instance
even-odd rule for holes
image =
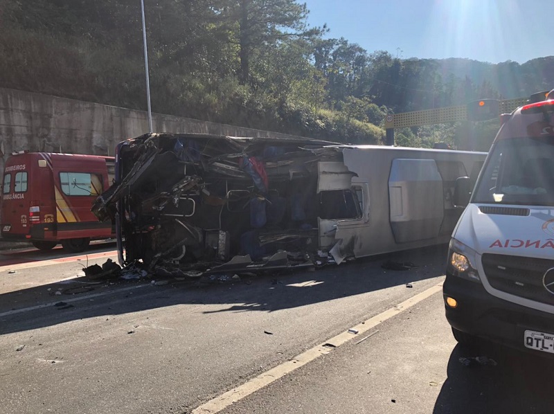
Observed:
[[[420,303],[422,300],[429,298],[429,296],[436,294],[442,289],[443,289],[443,282],[440,282],[440,284],[434,287],[430,287],[429,289],[422,291],[419,294],[416,294],[415,296],[412,296],[407,300],[404,300],[404,302],[399,303],[395,307],[391,307],[391,309],[387,309],[381,314],[373,316],[373,318],[369,318],[367,321],[362,322],[359,325],[356,325],[350,329],[357,330],[358,335],[363,334],[364,332],[367,332],[368,330],[373,329],[380,323],[383,323],[384,321],[392,318],[393,316],[396,316],[397,314],[400,314],[406,311],[406,309],[409,309],[413,305]],[[350,341],[350,339],[352,338],[355,338],[355,335],[349,333],[348,331],[338,334],[337,336],[334,336],[331,339],[328,339],[328,341],[321,343],[321,345],[316,345],[314,348],[307,350],[302,354],[299,354],[298,356],[290,359],[289,361],[284,362],[279,366],[276,366],[275,368],[271,368],[271,370],[258,375],[258,377],[255,377],[245,382],[244,384],[238,387],[235,387],[232,390],[229,390],[226,393],[219,395],[218,397],[211,399],[205,404],[202,404],[201,406],[195,408],[192,414],[219,413],[220,411],[230,406],[231,404],[238,402],[240,399],[247,397],[248,395],[251,395],[255,391],[260,390],[261,388],[271,384],[277,379],[280,379],[281,377],[284,377],[290,372],[297,370],[298,368],[307,364],[308,362],[314,361],[314,359],[321,357],[321,355],[328,354],[329,352],[331,352],[332,349],[334,349],[332,347],[330,348],[329,346],[324,346],[325,344],[330,343],[332,345],[335,345],[335,347],[338,347]]]

